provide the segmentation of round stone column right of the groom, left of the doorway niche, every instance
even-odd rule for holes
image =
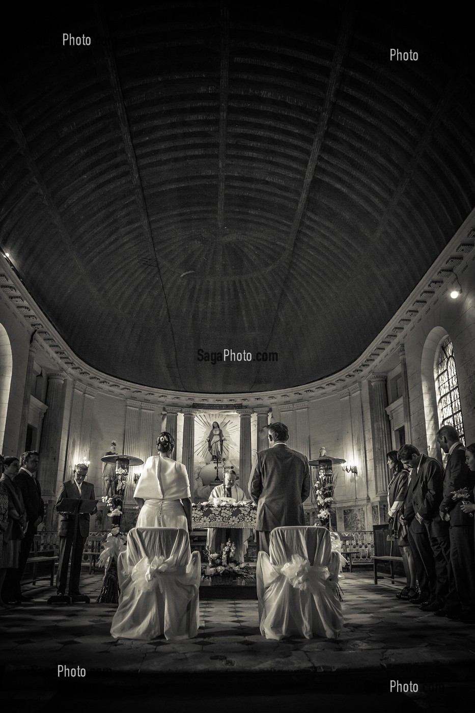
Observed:
[[[391,450],[389,419],[386,413],[386,374],[369,376],[369,409],[373,436],[374,482],[376,495],[387,492],[386,453]]]

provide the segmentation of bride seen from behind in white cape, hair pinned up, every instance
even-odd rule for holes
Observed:
[[[141,506],[138,528],[181,528],[191,532],[190,481],[183,463],[173,461],[175,439],[168,431],[157,438],[157,456],[145,461],[133,497]]]

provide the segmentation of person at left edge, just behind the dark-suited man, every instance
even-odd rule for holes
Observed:
[[[8,498],[8,518],[6,530],[3,533],[4,548],[0,560],[0,591],[4,583],[6,570],[18,568],[21,540],[24,539],[24,527],[26,525],[26,514],[21,491],[16,488],[14,479],[19,471],[19,459],[16,456],[4,458],[4,473],[0,483],[7,493]],[[5,607],[5,602],[0,597],[0,605]]]

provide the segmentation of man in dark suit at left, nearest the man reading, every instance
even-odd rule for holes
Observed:
[[[21,540],[18,569],[10,570],[6,575],[5,589],[9,602],[24,602],[26,597],[21,594],[21,578],[26,567],[26,560],[31,551],[36,528],[44,518],[44,502],[41,499],[41,486],[36,471],[39,466],[38,451],[26,451],[20,458],[20,470],[15,478],[15,486],[21,492],[25,503],[27,527],[24,539]]]

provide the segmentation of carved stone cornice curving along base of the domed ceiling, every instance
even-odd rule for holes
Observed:
[[[355,384],[355,381],[367,379],[372,369],[384,368],[384,361],[396,350],[399,352],[399,349],[404,347],[404,339],[414,329],[415,324],[431,309],[431,305],[437,302],[442,295],[448,293],[456,277],[452,270],[444,270],[444,267],[449,265],[449,260],[453,259],[451,256],[458,255],[457,274],[460,275],[469,265],[474,249],[474,225],[475,209],[471,211],[469,217],[466,218],[387,326],[379,332],[379,335],[372,344],[369,344],[359,359],[347,369],[320,379],[320,381],[302,384],[302,386],[292,387],[292,389],[256,391],[250,394],[225,394],[225,396],[223,394],[207,394],[206,400],[213,406],[222,403],[223,400],[226,404],[246,403],[252,411],[256,411],[256,407],[260,408],[258,404],[272,402],[277,408],[287,406],[286,410],[288,411],[289,400],[295,396],[305,396],[306,399],[315,401],[339,394],[342,389],[344,391],[348,389],[350,395],[359,391],[360,386]],[[6,262],[8,264],[8,260]],[[3,295],[2,303],[8,305],[8,308],[29,334],[32,330],[37,330],[35,340],[38,340],[41,349],[48,356],[52,368],[65,369],[66,376],[75,381],[75,384],[80,379],[81,383],[86,385],[91,383],[97,391],[119,399],[140,399],[140,401],[148,402],[148,397],[150,397],[150,402],[160,406],[164,402],[166,404],[167,401],[176,401],[177,403],[173,407],[165,406],[168,413],[178,413],[190,403],[201,403],[205,400],[203,394],[155,389],[116,379],[93,369],[73,353],[34,302],[14,270],[9,270],[7,267],[5,270],[0,270],[0,295]],[[402,352],[399,352],[399,355],[401,354]],[[376,383],[374,377],[372,381]]]

